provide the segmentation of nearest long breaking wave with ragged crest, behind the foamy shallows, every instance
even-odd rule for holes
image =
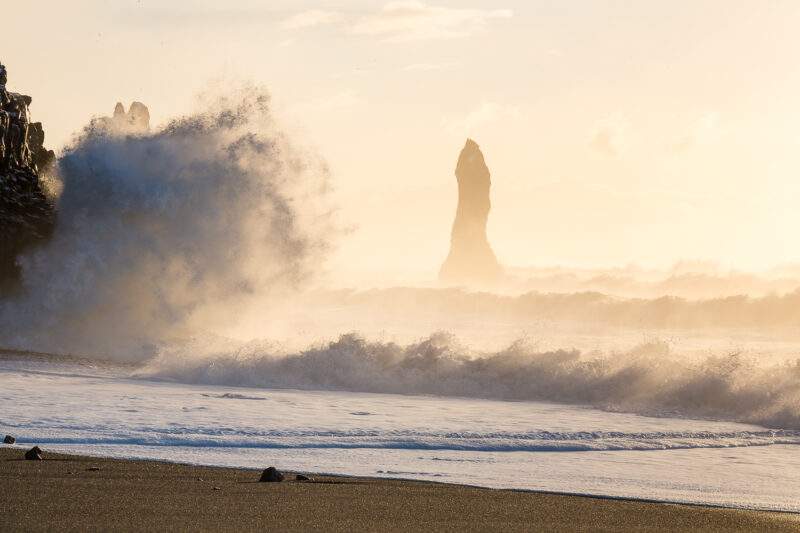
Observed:
[[[348,334],[289,354],[253,344],[206,355],[168,351],[138,374],[251,387],[546,400],[800,430],[800,360],[766,365],[741,353],[689,359],[663,342],[581,353],[537,351],[517,341],[473,353],[443,333],[406,346]]]

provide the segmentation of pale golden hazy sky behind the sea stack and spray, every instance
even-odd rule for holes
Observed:
[[[25,3],[9,88],[47,144],[114,103],[158,124],[230,81],[265,85],[330,164],[355,230],[331,265],[433,279],[456,159],[492,172],[506,265],[800,261],[794,1]]]

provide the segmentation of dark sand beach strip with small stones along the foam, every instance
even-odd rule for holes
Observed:
[[[794,514],[24,452],[0,446],[3,531],[800,531]]]

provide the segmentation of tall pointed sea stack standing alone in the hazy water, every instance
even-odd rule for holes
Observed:
[[[450,235],[450,253],[439,271],[439,282],[451,286],[495,287],[503,276],[503,267],[486,237],[492,182],[478,143],[472,139],[467,139],[458,156],[456,180],[458,208]]]

